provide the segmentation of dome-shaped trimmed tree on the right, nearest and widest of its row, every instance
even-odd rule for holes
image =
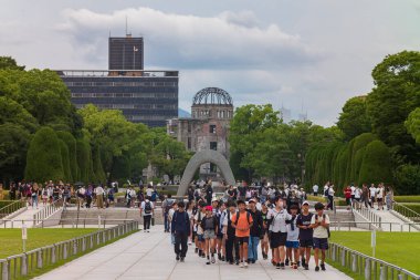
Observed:
[[[392,183],[391,158],[384,142],[372,141],[366,146],[359,182],[363,184]]]

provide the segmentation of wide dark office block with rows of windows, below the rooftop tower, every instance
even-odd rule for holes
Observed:
[[[125,117],[148,126],[165,126],[178,116],[178,71],[56,71],[81,108],[123,111]]]

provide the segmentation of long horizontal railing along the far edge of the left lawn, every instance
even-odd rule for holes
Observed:
[[[42,220],[36,224],[36,228],[51,228],[51,227],[71,227],[71,228],[86,228],[86,226],[97,225],[98,228],[106,228],[106,226],[115,226],[119,224],[125,224],[127,221],[132,221],[133,219],[109,219],[109,218],[80,218],[76,219],[48,219]],[[22,225],[33,225],[36,220],[24,219],[24,220],[13,220],[13,219],[4,219],[1,228],[21,228]],[[56,225],[51,226],[51,222]],[[87,227],[92,228],[92,227]]]

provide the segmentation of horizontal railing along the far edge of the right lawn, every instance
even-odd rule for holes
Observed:
[[[366,225],[366,228],[361,228],[360,226]],[[382,231],[389,231],[389,232],[418,232],[420,231],[420,222],[392,222],[392,221],[382,221]],[[388,229],[389,227],[389,229]],[[348,231],[356,231],[356,230],[377,230],[377,226],[375,221],[345,221],[345,220],[338,220],[338,221],[330,221],[329,228],[340,231],[340,230],[348,230]]]

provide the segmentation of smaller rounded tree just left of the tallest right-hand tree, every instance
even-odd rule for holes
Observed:
[[[351,139],[363,133],[371,132],[371,125],[366,112],[366,96],[349,98],[339,114],[338,128],[343,131],[346,139]]]

